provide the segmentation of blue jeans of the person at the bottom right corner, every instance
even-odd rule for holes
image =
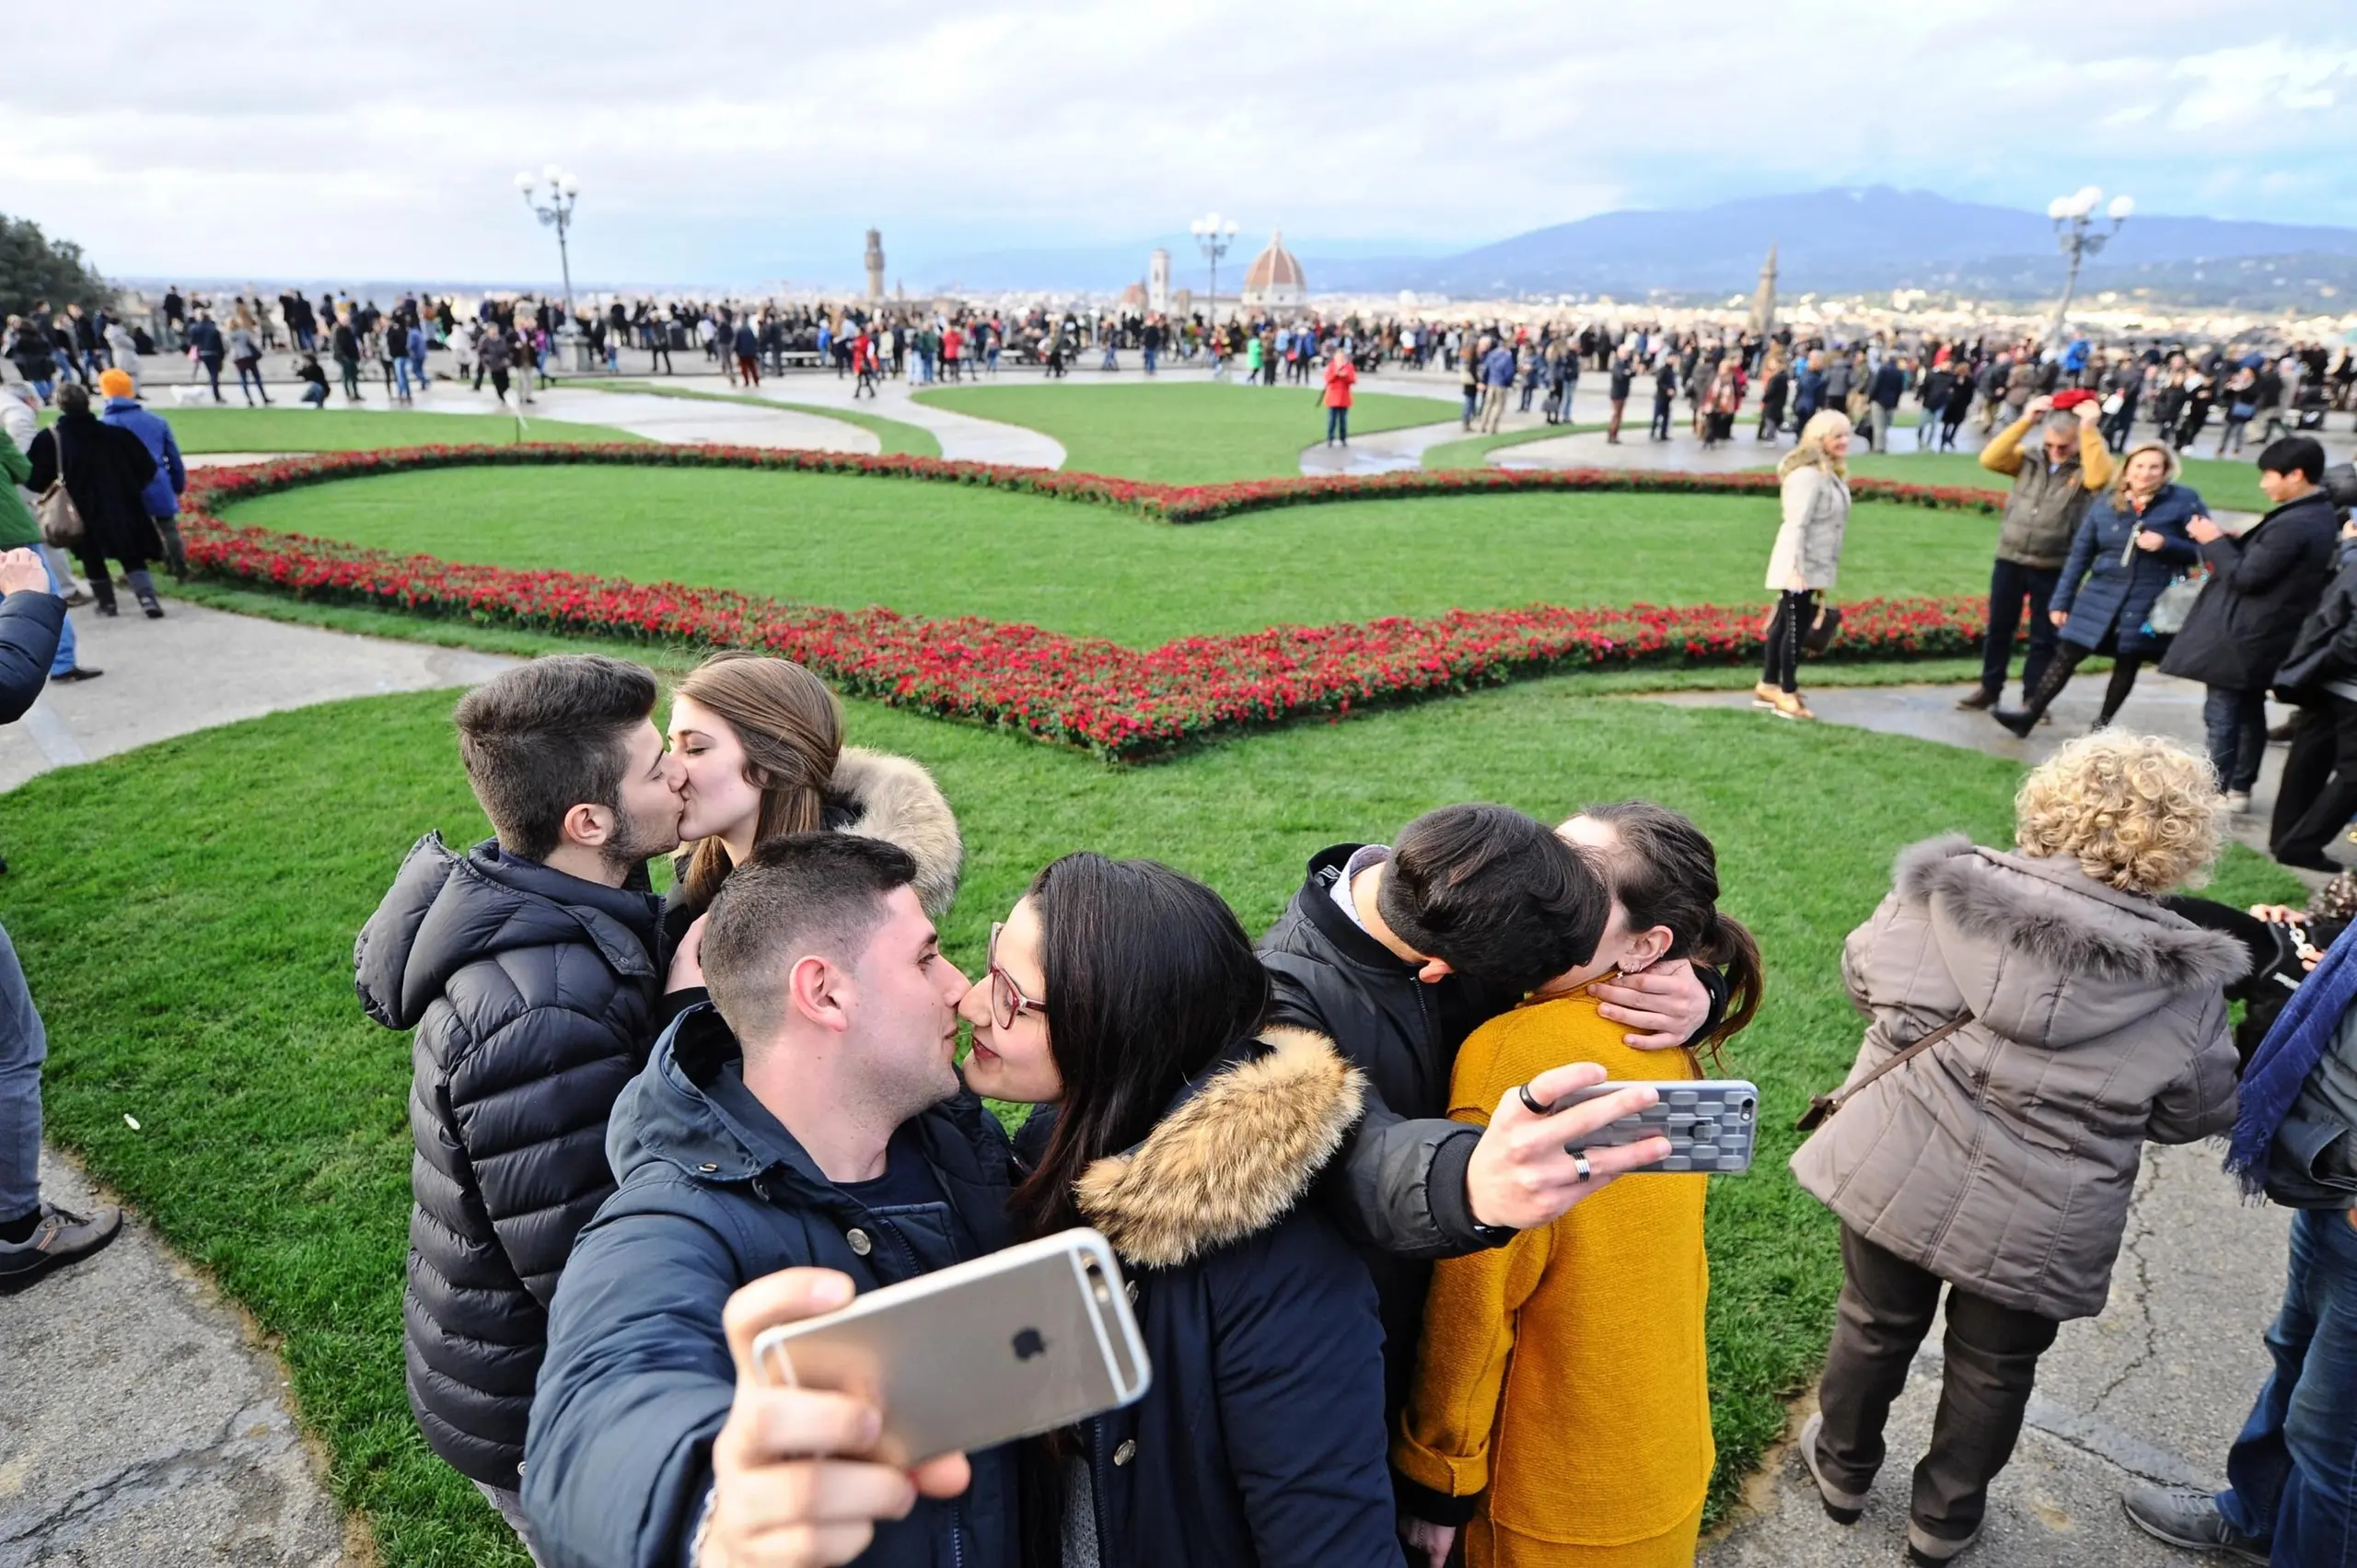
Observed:
[[[2277,1563],[2357,1566],[2357,1228],[2341,1210],[2291,1221],[2291,1278],[2267,1330],[2275,1372],[2225,1457],[2218,1511]]]

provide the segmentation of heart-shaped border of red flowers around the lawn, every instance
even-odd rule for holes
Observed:
[[[1633,604],[1624,608],[1450,611],[1365,625],[1268,627],[1127,648],[978,615],[919,618],[886,608],[837,611],[733,589],[636,585],[561,571],[464,566],[396,556],[295,533],[236,528],[207,507],[328,479],[486,462],[632,462],[858,472],[1032,490],[1117,505],[1169,521],[1261,507],[1376,495],[1492,490],[1685,490],[1749,495],[1768,474],[1475,472],[1369,479],[1277,479],[1167,488],[1096,474],[1011,469],[933,457],[844,457],[761,448],[408,448],[335,453],[191,474],[181,531],[196,571],[311,599],[528,630],[761,648],[818,670],[844,691],[922,712],[997,724],[1101,757],[1138,759],[1195,738],[1259,729],[1353,705],[1466,691],[1551,670],[1728,665],[1761,651],[1758,606]],[[2001,498],[1921,486],[1857,486],[1876,500],[1996,509]],[[1980,646],[1980,599],[1869,599],[1843,606],[1848,658],[1926,658]]]

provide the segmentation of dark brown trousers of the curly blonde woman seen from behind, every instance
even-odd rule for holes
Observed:
[[[1817,1462],[1846,1493],[1864,1493],[1883,1467],[1883,1422],[1907,1386],[1907,1365],[1930,1332],[1940,1276],[1841,1228],[1841,1304],[1817,1405]],[[1930,1452],[1914,1469],[1909,1518],[1942,1540],[1966,1540],[1989,1507],[1989,1481],[2022,1436],[2039,1356],[2060,1323],[1947,1287],[1947,1370]]]

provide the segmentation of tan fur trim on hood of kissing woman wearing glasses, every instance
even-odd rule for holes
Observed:
[[[1367,1080],[1332,1040],[1270,1028],[1254,1045],[1080,1177],[1080,1212],[1127,1261],[1176,1269],[1277,1224],[1358,1122]]]

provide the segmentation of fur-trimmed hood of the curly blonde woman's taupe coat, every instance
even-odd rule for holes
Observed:
[[[1973,1016],[2025,1045],[2110,1035],[2251,967],[2232,936],[2105,887],[2065,856],[1947,835],[1904,849],[1895,887],[1930,905],[1935,946]]]

